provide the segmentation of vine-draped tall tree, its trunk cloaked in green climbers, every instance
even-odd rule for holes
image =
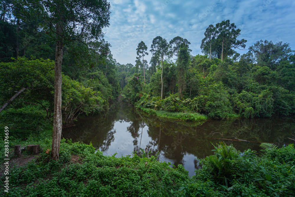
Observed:
[[[178,59],[177,59],[177,71],[178,71],[178,93],[179,93],[179,98],[181,99],[183,97],[183,91],[185,89],[185,75],[186,71],[188,70],[189,67],[189,60],[190,60],[190,55],[189,55],[189,50],[188,50],[188,45],[186,43],[181,43],[180,48],[179,48],[179,53],[178,53]]]

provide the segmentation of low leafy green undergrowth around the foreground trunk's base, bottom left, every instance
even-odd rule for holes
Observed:
[[[178,189],[189,180],[188,172],[181,165],[173,169],[154,156],[104,156],[100,151],[95,153],[91,144],[64,139],[60,149],[58,162],[50,160],[50,153],[43,151],[37,160],[11,168],[11,189],[6,195],[171,196],[173,192],[173,196],[183,196],[183,191]],[[72,163],[71,155],[78,155],[81,164]]]

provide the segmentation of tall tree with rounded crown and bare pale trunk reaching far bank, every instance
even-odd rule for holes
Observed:
[[[153,56],[159,56],[161,58],[162,62],[162,72],[161,72],[161,99],[163,99],[163,61],[164,56],[170,56],[169,51],[169,44],[165,38],[162,38],[161,36],[157,36],[153,39],[153,44],[150,46],[151,50],[150,52],[153,54]]]

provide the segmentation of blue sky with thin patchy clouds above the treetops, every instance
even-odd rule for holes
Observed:
[[[242,30],[238,39],[248,40],[246,48],[261,39],[290,43],[295,50],[293,0],[110,0],[110,4],[105,39],[120,64],[135,64],[140,41],[148,46],[149,63],[150,45],[157,36],[168,42],[181,36],[191,42],[191,55],[202,54],[200,45],[206,28],[227,19]]]

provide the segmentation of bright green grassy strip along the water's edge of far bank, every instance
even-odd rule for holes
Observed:
[[[138,109],[142,110],[145,113],[148,113],[149,115],[155,115],[163,118],[170,118],[181,121],[203,121],[208,119],[207,116],[201,115],[199,113],[168,112],[142,107],[138,107]]]

